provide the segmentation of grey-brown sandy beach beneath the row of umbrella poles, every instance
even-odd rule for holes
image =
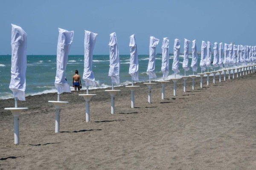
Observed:
[[[61,109],[60,133],[55,133],[55,108],[49,100],[57,93],[27,96],[18,107],[20,144],[14,144],[13,116],[4,108],[14,99],[0,100],[0,169],[54,170],[254,170],[256,169],[256,74],[250,73],[203,88],[200,78],[166,85],[161,99],[160,82],[148,88],[143,82],[135,91],[125,86],[115,96],[99,88],[90,101],[90,122],[85,122],[82,91],[61,94],[69,102]]]

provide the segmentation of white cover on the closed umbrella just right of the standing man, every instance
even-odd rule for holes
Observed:
[[[96,86],[93,74],[93,49],[98,34],[84,30],[84,74],[85,86]]]

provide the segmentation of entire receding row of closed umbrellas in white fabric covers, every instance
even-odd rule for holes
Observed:
[[[57,70],[55,77],[55,87],[57,88],[58,94],[63,92],[71,92],[70,86],[67,84],[65,79],[65,70],[67,67],[68,54],[73,42],[74,31],[67,31],[59,28],[58,45],[57,45]],[[96,44],[96,37],[98,34],[86,31],[84,36],[84,73],[82,79],[85,81],[86,87],[96,86],[93,70],[93,49]],[[11,68],[11,82],[9,88],[13,91],[14,97],[19,100],[25,100],[25,89],[26,89],[26,48],[27,48],[27,34],[19,26],[12,24],[12,68]],[[151,36],[149,41],[149,60],[147,73],[149,80],[156,78],[154,72],[155,69],[155,57],[156,47],[159,43],[159,39]],[[180,56],[180,40],[175,39],[174,43],[174,59],[172,63],[172,70],[174,74],[178,74],[179,70],[179,56]],[[189,44],[190,40],[184,39],[184,59],[182,67],[185,71],[189,71]],[[247,64],[252,63],[256,60],[256,46],[248,45],[234,45],[233,43],[223,44],[214,43],[213,47],[213,62],[212,62],[212,51],[211,42],[202,41],[201,45],[201,71],[205,71],[206,68],[212,67],[211,64],[216,67],[222,68],[240,65],[241,63]],[[132,84],[133,81],[139,81],[138,77],[138,52],[135,35],[130,36],[130,68],[129,74],[131,75]],[[190,67],[193,72],[198,69],[198,54],[196,40],[192,41],[192,62]],[[112,87],[113,83],[119,84],[119,68],[120,59],[119,51],[116,40],[116,33],[110,34],[109,42],[110,51],[110,68],[108,75],[111,77]],[[169,75],[169,38],[163,38],[162,42],[162,67],[163,79]]]

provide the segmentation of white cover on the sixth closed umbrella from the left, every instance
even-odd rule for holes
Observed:
[[[153,36],[150,36],[149,40],[149,60],[148,60],[148,69],[147,73],[149,79],[157,78],[154,68],[155,68],[155,60],[156,60],[156,48],[159,40]]]

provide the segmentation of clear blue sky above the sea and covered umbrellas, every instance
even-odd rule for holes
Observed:
[[[119,54],[149,54],[149,37],[256,45],[256,0],[1,0],[0,55],[11,55],[11,23],[27,33],[28,55],[56,55],[58,28],[74,31],[70,55],[84,54],[84,30],[97,33],[93,54],[109,54],[116,32]],[[192,43],[189,46],[191,51]],[[212,45],[213,47],[213,45]]]

